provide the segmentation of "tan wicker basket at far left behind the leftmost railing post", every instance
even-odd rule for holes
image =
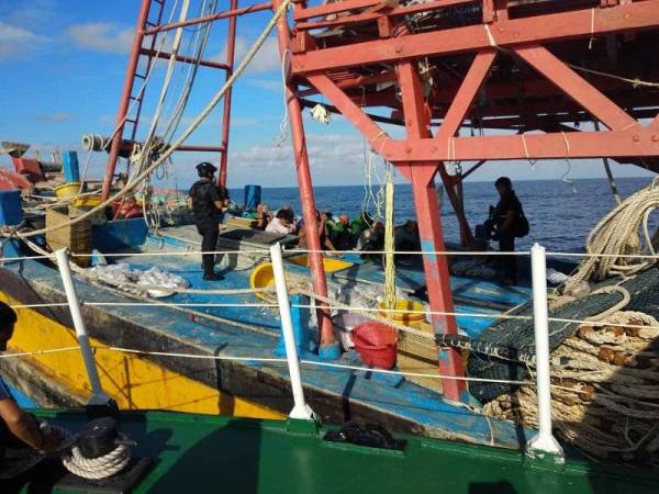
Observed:
[[[72,254],[91,254],[91,220],[70,224],[70,220],[79,214],[79,211],[69,211],[68,206],[51,207],[46,211],[46,228],[64,225],[46,232],[46,243],[51,250],[68,247]],[[91,257],[74,257],[72,260],[82,268],[91,263]]]

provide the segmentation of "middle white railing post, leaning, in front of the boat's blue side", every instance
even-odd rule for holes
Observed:
[[[272,261],[272,273],[275,276],[275,287],[277,289],[277,302],[279,304],[286,359],[288,360],[291,388],[293,389],[294,406],[289,414],[289,417],[313,420],[315,419],[315,414],[304,401],[304,390],[302,389],[302,378],[300,377],[300,362],[298,360],[298,348],[295,347],[295,337],[293,335],[291,306],[288,297],[288,288],[286,285],[286,273],[283,271],[283,258],[281,256],[281,245],[279,243],[270,247],[270,259]]]

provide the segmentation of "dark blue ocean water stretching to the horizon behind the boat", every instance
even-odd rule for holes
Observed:
[[[616,180],[623,198],[647,187],[649,178],[622,178]],[[530,234],[518,240],[518,248],[527,248],[537,242],[548,250],[582,252],[588,233],[614,206],[615,200],[605,179],[574,180],[576,190],[560,180],[534,180],[514,182],[514,189],[522,201],[524,212],[530,223]],[[232,190],[232,198],[241,203],[242,190]],[[365,188],[316,187],[317,209],[331,211],[335,216],[346,213],[350,220],[361,212]],[[458,223],[446,194],[442,195],[442,220],[445,238],[458,240]],[[299,189],[297,187],[264,189],[263,201],[271,210],[290,204],[297,213],[301,212]],[[482,223],[488,217],[488,207],[495,204],[498,193],[493,183],[466,182],[465,209],[470,225]],[[370,204],[371,214],[375,213]],[[409,184],[395,187],[395,221],[403,223],[414,220],[412,188]],[[654,224],[658,222],[656,218]]]

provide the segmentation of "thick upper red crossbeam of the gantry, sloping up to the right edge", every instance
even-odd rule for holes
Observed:
[[[594,14],[593,14],[594,13]],[[541,44],[606,33],[632,33],[659,26],[659,1],[638,1],[607,9],[496,21],[489,24],[501,47]],[[480,50],[492,46],[483,24],[377,40],[293,56],[293,75],[365,66],[405,58]]]

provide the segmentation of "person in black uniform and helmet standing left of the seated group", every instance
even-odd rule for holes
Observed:
[[[217,247],[220,237],[220,218],[222,211],[228,203],[226,188],[214,183],[214,175],[217,171],[210,162],[197,165],[199,180],[192,184],[189,197],[189,205],[194,213],[194,223],[199,235],[202,236],[201,251],[209,252]],[[213,254],[202,255],[203,279],[206,281],[222,280],[224,277],[214,271],[215,256]]]

